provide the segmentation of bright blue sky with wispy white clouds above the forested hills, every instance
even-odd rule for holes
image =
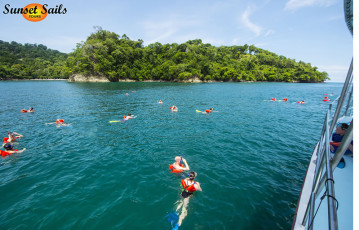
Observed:
[[[5,4],[62,4],[66,14],[29,22],[4,14]],[[255,45],[326,71],[343,82],[353,56],[342,0],[0,0],[0,40],[44,44],[71,52],[93,26],[130,39],[183,43],[202,39],[215,46]]]

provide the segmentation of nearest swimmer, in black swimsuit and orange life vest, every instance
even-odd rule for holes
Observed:
[[[188,174],[188,178],[183,179],[181,181],[183,187],[183,191],[181,193],[181,196],[183,197],[183,204],[180,203],[176,209],[176,212],[178,212],[178,210],[182,206],[182,212],[178,218],[178,226],[181,226],[183,219],[187,216],[187,206],[189,203],[189,198],[192,197],[192,194],[195,191],[202,191],[201,184],[199,182],[194,181],[196,177],[197,177],[196,172],[190,172]]]

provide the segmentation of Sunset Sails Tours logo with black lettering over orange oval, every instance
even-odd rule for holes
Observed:
[[[22,14],[22,16],[31,22],[44,20],[48,14],[66,14],[66,8],[61,5],[49,7],[47,4],[32,3],[22,8],[13,8],[10,4],[5,5],[4,14]]]

